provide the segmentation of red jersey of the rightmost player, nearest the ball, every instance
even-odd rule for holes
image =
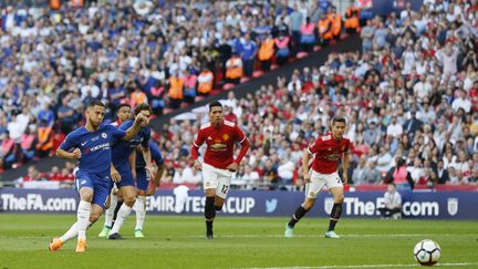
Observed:
[[[342,138],[336,141],[332,134],[319,137],[309,146],[309,153],[315,154],[312,163],[312,169],[321,174],[332,174],[337,170],[339,161],[347,153],[350,139]]]

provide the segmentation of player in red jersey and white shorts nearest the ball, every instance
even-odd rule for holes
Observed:
[[[342,213],[342,203],[344,200],[342,180],[337,174],[339,161],[343,157],[344,184],[349,178],[346,170],[349,168],[349,148],[351,142],[343,137],[346,130],[346,120],[344,117],[334,117],[332,120],[332,133],[319,137],[312,145],[304,149],[302,156],[302,168],[305,187],[305,200],[292,215],[292,218],[285,226],[285,237],[293,237],[295,224],[313,207],[318,194],[324,186],[332,193],[334,205],[331,211],[329,230],[325,232],[326,238],[340,238],[334,231]],[[315,154],[312,163],[312,172],[309,173],[310,155]]]

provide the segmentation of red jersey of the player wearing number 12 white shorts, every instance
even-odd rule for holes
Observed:
[[[202,125],[194,146],[200,147],[206,142],[204,162],[214,167],[226,169],[233,162],[236,142],[242,143],[245,139],[245,134],[235,123],[224,121],[219,127],[212,127],[210,123]]]

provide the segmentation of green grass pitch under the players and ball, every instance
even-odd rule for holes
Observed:
[[[134,215],[124,240],[100,239],[103,218],[89,232],[89,249],[75,240],[48,250],[74,215],[0,214],[0,269],[13,268],[408,268],[419,267],[413,247],[422,239],[441,247],[438,268],[478,268],[478,223],[342,219],[339,240],[325,239],[328,219],[303,218],[295,238],[283,238],[287,218],[218,216],[215,239],[205,239],[202,217],[147,216],[145,238],[133,237]]]

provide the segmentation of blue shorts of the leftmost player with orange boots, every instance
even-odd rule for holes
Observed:
[[[110,192],[113,187],[113,182],[110,176],[98,177],[90,172],[77,170],[75,175],[76,190],[83,187],[93,189],[92,204],[96,204],[103,208],[106,208],[106,200]]]

